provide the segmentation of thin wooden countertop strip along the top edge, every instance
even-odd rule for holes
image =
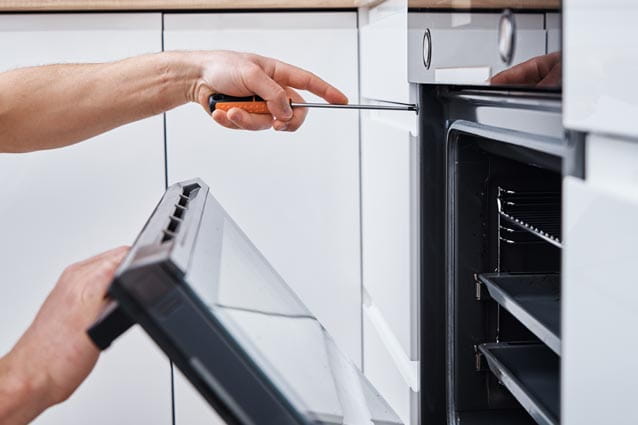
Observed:
[[[352,9],[377,3],[380,0],[0,0],[0,11]],[[428,9],[560,8],[560,0],[408,0],[408,4]]]

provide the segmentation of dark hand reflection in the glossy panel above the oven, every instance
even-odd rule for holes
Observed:
[[[554,52],[537,56],[501,71],[492,77],[490,84],[557,87],[560,86],[561,77],[561,52]]]

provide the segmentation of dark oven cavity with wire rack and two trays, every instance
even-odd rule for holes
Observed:
[[[450,422],[557,424],[561,158],[465,133],[453,143]]]

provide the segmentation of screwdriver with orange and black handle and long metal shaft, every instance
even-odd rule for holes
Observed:
[[[417,106],[413,104],[396,105],[338,105],[332,103],[301,103],[290,101],[292,108],[335,108],[335,109],[373,109],[381,111],[414,111]],[[213,94],[208,98],[208,107],[211,114],[215,110],[229,111],[232,108],[240,108],[252,114],[270,114],[266,102],[259,96],[234,97],[225,94]]]

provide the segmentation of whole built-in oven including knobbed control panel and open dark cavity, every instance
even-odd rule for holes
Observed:
[[[562,123],[561,3],[408,5],[420,422],[558,424],[562,181],[584,172]]]

